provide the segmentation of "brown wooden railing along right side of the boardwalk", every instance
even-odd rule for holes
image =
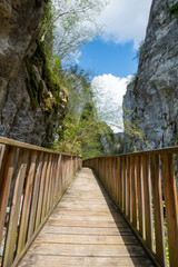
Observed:
[[[156,264],[178,267],[178,147],[100,157],[83,166],[96,171]]]

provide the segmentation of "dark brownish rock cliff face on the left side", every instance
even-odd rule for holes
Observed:
[[[34,145],[52,140],[67,100],[65,92],[59,92],[61,103],[58,109],[52,107],[43,62],[34,56],[44,9],[44,0],[0,1],[0,134]],[[46,98],[36,105],[31,80]]]

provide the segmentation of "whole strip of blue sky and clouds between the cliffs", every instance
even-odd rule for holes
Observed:
[[[135,58],[139,43],[145,40],[152,0],[108,1],[96,19],[103,26],[103,33],[80,49],[77,62],[92,75],[91,87],[100,88],[103,108],[107,102],[109,112],[109,108],[122,106],[127,85],[137,72]]]

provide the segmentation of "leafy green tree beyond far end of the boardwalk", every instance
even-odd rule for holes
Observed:
[[[83,71],[72,69],[68,82],[69,102],[55,149],[85,158],[101,156],[102,136],[109,134],[110,127],[98,118],[90,80]]]

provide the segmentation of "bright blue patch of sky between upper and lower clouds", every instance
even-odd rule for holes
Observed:
[[[79,66],[95,76],[111,73],[125,78],[137,72],[136,53],[134,41],[122,44],[98,38],[81,49]]]

